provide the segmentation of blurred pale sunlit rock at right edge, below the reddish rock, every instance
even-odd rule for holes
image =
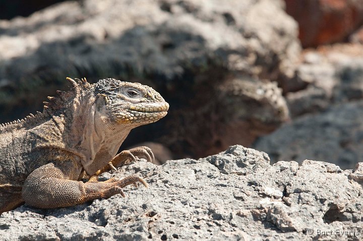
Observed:
[[[363,98],[363,47],[334,44],[306,50],[290,87],[285,88],[292,118]]]

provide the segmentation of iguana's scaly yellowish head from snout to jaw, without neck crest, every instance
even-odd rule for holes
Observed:
[[[118,124],[141,126],[164,117],[169,104],[149,86],[140,83],[104,79],[95,85],[95,93],[104,98],[104,108]],[[103,103],[98,104],[100,109]]]

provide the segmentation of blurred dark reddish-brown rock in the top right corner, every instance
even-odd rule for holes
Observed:
[[[363,0],[285,0],[302,46],[341,42],[363,23]]]

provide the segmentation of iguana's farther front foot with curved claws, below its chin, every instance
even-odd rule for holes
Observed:
[[[120,167],[133,161],[136,162],[141,156],[146,157],[146,160],[149,162],[154,162],[155,160],[154,153],[149,147],[140,146],[118,153],[113,157],[112,161],[108,163],[108,166],[110,169],[117,171],[115,166]]]

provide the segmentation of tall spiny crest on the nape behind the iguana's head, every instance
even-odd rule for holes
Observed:
[[[50,100],[50,102],[44,101],[44,109],[51,108],[53,110],[63,108],[65,103],[70,101],[70,98],[74,98],[76,95],[78,95],[82,90],[89,89],[91,87],[91,84],[89,84],[86,80],[86,78],[66,78],[68,82],[71,84],[71,90],[70,91],[60,91],[57,90],[56,93],[58,96],[52,97],[48,96],[47,98]]]

